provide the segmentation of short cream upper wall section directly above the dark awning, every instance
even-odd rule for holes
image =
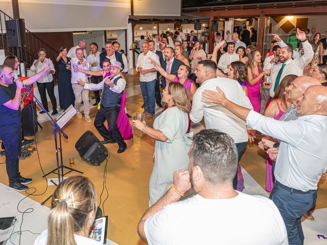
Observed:
[[[180,16],[181,0],[134,0],[134,15]]]

